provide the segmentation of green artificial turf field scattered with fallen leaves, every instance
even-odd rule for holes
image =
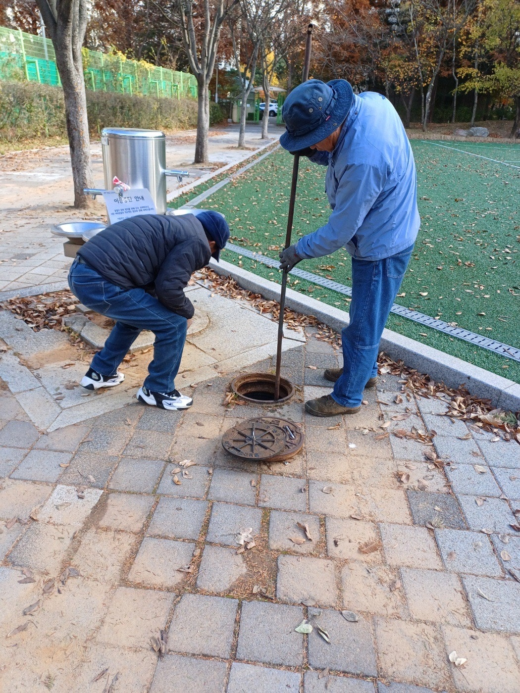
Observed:
[[[520,146],[414,140],[412,147],[422,227],[396,302],[520,348]],[[202,204],[225,214],[236,245],[277,258],[292,166],[293,157],[276,150]],[[300,160],[293,242],[327,221],[325,170]],[[280,281],[277,270],[229,251],[223,257]],[[345,250],[298,267],[351,286]],[[348,299],[336,292],[291,276],[289,284],[348,309]],[[520,383],[517,361],[397,315],[387,326]]]

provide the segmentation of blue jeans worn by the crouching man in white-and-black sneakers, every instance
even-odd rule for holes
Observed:
[[[92,360],[94,371],[103,376],[115,374],[141,330],[150,330],[155,334],[153,361],[144,385],[153,392],[172,392],[186,341],[187,319],[143,289],[121,289],[77,260],[69,272],[69,286],[87,308],[116,321],[105,346]]]

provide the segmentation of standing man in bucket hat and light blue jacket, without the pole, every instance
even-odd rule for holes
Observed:
[[[345,247],[352,256],[350,323],[342,332],[343,369],[327,369],[329,395],[309,400],[314,416],[355,414],[374,387],[379,340],[419,231],[413,152],[390,101],[354,94],[346,80],[309,80],[291,91],[281,146],[327,166],[327,224],[280,253],[281,269]]]

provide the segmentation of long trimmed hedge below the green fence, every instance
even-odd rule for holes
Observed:
[[[91,134],[106,127],[188,130],[197,126],[197,102],[191,98],[87,90],[87,113]],[[222,120],[215,115],[215,122]],[[62,89],[34,82],[0,82],[0,139],[42,137],[67,137]]]

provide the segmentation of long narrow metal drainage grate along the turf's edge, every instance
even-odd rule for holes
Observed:
[[[278,268],[280,265],[279,261],[277,260],[273,260],[272,258],[266,255],[262,255],[261,253],[255,253],[252,252],[252,250],[241,248],[239,245],[234,245],[234,243],[227,243],[226,250],[231,250],[231,252],[239,253],[240,255],[250,258],[256,262],[259,262],[262,265],[267,265],[268,267]],[[345,286],[345,284],[340,284],[337,281],[333,281],[332,279],[325,279],[324,277],[320,277],[318,274],[306,272],[305,270],[299,270],[297,267],[291,270],[289,274],[293,274],[295,275],[295,277],[299,277],[300,279],[306,279],[306,281],[318,284],[319,286],[322,286],[326,289],[330,289],[331,291],[336,291],[339,294],[343,294],[345,296],[352,296],[352,289],[349,286]],[[459,340],[465,340],[466,342],[470,342],[471,344],[474,344],[476,347],[482,347],[482,349],[489,349],[489,351],[494,351],[494,353],[498,353],[501,356],[506,356],[507,358],[512,358],[515,361],[520,361],[520,349],[510,347],[509,344],[503,344],[503,342],[490,340],[489,337],[484,337],[483,335],[479,335],[476,332],[470,332],[469,330],[465,330],[462,327],[450,325],[447,322],[444,322],[444,320],[436,320],[434,317],[431,317],[430,315],[418,313],[417,310],[410,310],[410,308],[405,308],[404,306],[399,306],[398,304],[393,304],[391,312],[395,313],[395,315],[401,315],[401,317],[406,317],[408,320],[418,322],[419,324],[422,324],[425,327],[431,327],[434,330],[443,332],[444,334],[447,334],[450,337],[457,337]]]

